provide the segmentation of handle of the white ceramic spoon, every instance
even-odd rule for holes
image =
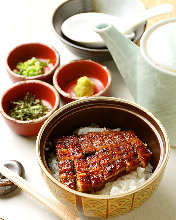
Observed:
[[[137,15],[133,15],[126,18],[126,27],[124,27],[123,33],[128,33],[134,28],[136,25],[141,24],[142,22],[148,20],[149,18],[153,18],[158,15],[166,14],[172,11],[172,4],[161,4],[146,11],[139,12]]]

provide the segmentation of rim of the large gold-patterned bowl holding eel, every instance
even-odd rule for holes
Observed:
[[[76,190],[70,189],[68,187],[66,187],[64,184],[62,184],[61,182],[59,182],[59,180],[57,180],[50,172],[48,172],[48,170],[46,169],[46,167],[44,166],[43,162],[42,162],[42,158],[40,155],[40,139],[43,133],[43,130],[45,129],[45,127],[47,126],[47,123],[54,118],[59,112],[62,112],[64,109],[69,108],[72,105],[76,105],[77,103],[81,103],[81,102],[86,102],[88,100],[116,100],[118,102],[123,102],[123,103],[127,103],[130,104],[142,111],[144,111],[145,113],[147,113],[147,115],[149,115],[149,117],[151,117],[159,126],[159,128],[161,129],[164,139],[166,141],[166,152],[165,155],[163,157],[162,163],[161,163],[161,158],[158,162],[158,165],[156,167],[156,170],[154,171],[154,173],[152,173],[152,175],[149,177],[149,179],[147,179],[145,181],[145,183],[143,183],[141,186],[137,187],[136,189],[133,189],[131,191],[128,192],[124,192],[121,194],[116,194],[116,195],[95,195],[95,194],[88,194],[88,193],[82,193],[82,192],[78,192]],[[90,98],[84,98],[82,100],[76,100],[73,102],[70,102],[64,106],[62,106],[60,109],[58,109],[57,111],[55,111],[42,125],[38,135],[37,135],[37,140],[36,140],[36,155],[37,155],[37,161],[39,163],[39,166],[41,168],[41,170],[45,173],[45,175],[50,179],[50,181],[52,181],[55,185],[61,187],[62,189],[75,194],[77,196],[81,196],[81,197],[86,197],[86,198],[90,198],[90,199],[113,199],[113,198],[121,198],[121,197],[125,197],[125,196],[129,196],[132,195],[142,189],[144,189],[145,187],[147,187],[148,185],[150,185],[155,179],[157,179],[158,176],[160,176],[160,174],[164,171],[168,158],[169,158],[169,152],[170,152],[170,144],[169,144],[169,138],[168,135],[166,133],[165,128],[163,127],[163,125],[161,124],[161,122],[155,118],[155,116],[149,112],[147,109],[145,109],[144,107],[133,103],[131,101],[125,100],[125,99],[121,99],[121,98],[115,98],[115,97],[90,97]]]

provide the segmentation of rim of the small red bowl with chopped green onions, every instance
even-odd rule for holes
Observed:
[[[15,73],[8,65],[8,59],[9,59],[9,56],[11,55],[11,53],[13,51],[15,51],[17,48],[20,48],[22,46],[27,46],[27,45],[32,45],[32,44],[37,44],[37,45],[41,45],[41,46],[46,46],[47,48],[51,49],[55,56],[56,56],[56,63],[55,65],[46,73],[43,73],[43,74],[40,74],[40,75],[37,75],[37,76],[23,76],[23,75],[20,75],[20,74],[17,74]],[[46,43],[42,43],[42,42],[28,42],[28,43],[22,43],[22,44],[18,44],[16,45],[14,48],[12,48],[10,50],[10,52],[7,54],[7,57],[6,57],[6,69],[7,71],[14,77],[14,78],[18,78],[18,79],[21,79],[21,80],[42,80],[43,78],[45,78],[46,76],[50,76],[53,74],[53,71],[56,70],[56,68],[60,65],[60,54],[59,52],[51,45],[49,44],[46,44]]]

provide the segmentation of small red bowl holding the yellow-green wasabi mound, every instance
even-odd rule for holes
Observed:
[[[74,60],[60,66],[53,76],[53,84],[65,103],[82,99],[76,97],[73,90],[77,79],[82,76],[87,76],[94,83],[93,96],[109,95],[112,76],[107,67],[92,60]]]

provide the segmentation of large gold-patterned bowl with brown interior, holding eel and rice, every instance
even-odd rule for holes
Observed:
[[[72,190],[52,175],[45,151],[48,144],[55,136],[71,134],[76,128],[91,123],[132,129],[147,143],[152,151],[153,174],[143,185],[119,195],[93,195]],[[63,106],[44,123],[36,145],[43,178],[53,195],[73,212],[87,217],[115,217],[140,207],[158,187],[169,154],[166,131],[150,112],[129,101],[110,97],[82,99]]]

